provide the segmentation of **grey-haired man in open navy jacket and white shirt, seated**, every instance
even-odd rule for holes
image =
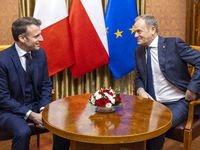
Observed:
[[[180,38],[158,36],[158,23],[152,15],[138,16],[135,21],[135,37],[140,45],[134,52],[136,93],[167,106],[173,114],[173,128],[187,120],[189,101],[200,94],[200,52]],[[195,66],[192,78],[187,63]],[[161,135],[148,140],[147,149],[161,150],[163,144]]]

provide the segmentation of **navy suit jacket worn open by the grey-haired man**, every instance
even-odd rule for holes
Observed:
[[[142,87],[147,91],[145,47],[135,49],[136,91]],[[200,52],[180,38],[158,39],[158,60],[165,78],[182,91],[190,89],[200,94]],[[195,66],[191,79],[187,63]]]

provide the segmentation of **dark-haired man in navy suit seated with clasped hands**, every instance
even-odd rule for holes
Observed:
[[[0,130],[13,136],[13,150],[29,149],[31,131],[26,120],[44,129],[41,111],[52,100],[47,57],[39,47],[40,25],[32,17],[14,21],[15,43],[0,52]]]

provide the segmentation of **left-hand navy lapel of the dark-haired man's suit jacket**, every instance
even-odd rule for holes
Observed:
[[[17,53],[17,50],[15,49],[15,46],[12,46],[12,57],[11,57],[13,64],[16,68],[16,72],[17,72],[17,76],[19,78],[21,87],[22,87],[22,91],[23,91],[23,95],[25,96],[25,81],[24,81],[24,70],[23,67],[21,65],[20,59],[19,59],[19,55]]]

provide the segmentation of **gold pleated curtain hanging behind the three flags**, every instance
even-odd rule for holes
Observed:
[[[66,0],[68,10],[70,9],[71,1],[72,0]],[[20,17],[33,16],[35,2],[36,0],[19,0]],[[145,0],[136,0],[136,2],[138,14],[144,14]],[[108,0],[102,0],[104,13],[106,11],[107,3]],[[108,65],[104,65],[77,79],[73,78],[68,68],[51,78],[53,81],[53,88],[56,91],[56,99],[77,94],[93,93],[103,85],[108,88],[117,88],[121,93],[130,95],[134,94],[135,88],[135,71],[115,80]]]

